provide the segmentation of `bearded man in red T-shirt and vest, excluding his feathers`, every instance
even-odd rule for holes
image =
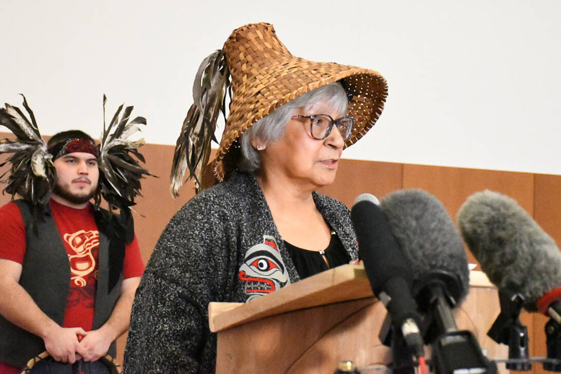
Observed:
[[[114,356],[144,270],[136,236],[127,242],[118,217],[90,202],[100,188],[93,139],[65,131],[47,146],[56,182],[45,209],[38,216],[25,199],[0,208],[0,373],[44,350],[61,368]]]

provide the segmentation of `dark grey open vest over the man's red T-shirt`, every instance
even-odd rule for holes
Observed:
[[[20,285],[47,316],[62,326],[70,288],[70,262],[62,238],[50,211],[36,221],[31,205],[16,200],[25,224],[26,250]],[[95,292],[93,329],[108,320],[121,295],[122,267],[125,258],[125,234],[117,216],[105,210],[94,212],[99,231],[98,282]],[[20,329],[0,316],[0,361],[23,367],[31,358],[44,352],[43,339]],[[116,355],[115,342],[109,354]]]

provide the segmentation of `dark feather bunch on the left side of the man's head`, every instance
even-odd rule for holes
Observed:
[[[34,214],[38,216],[47,206],[50,192],[56,182],[52,155],[47,150],[47,143],[41,137],[35,122],[33,111],[27,105],[24,95],[24,108],[28,119],[20,108],[5,104],[0,109],[0,124],[6,126],[16,139],[0,140],[0,155],[11,153],[0,167],[10,163],[10,169],[0,176],[1,183],[7,183],[4,192],[13,196],[20,195],[33,204]],[[6,177],[6,174],[9,176]]]

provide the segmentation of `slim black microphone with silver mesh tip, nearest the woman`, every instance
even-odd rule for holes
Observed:
[[[374,294],[384,303],[393,325],[401,330],[415,357],[424,356],[417,303],[411,295],[411,270],[387,218],[370,193],[359,195],[351,209],[358,253]]]

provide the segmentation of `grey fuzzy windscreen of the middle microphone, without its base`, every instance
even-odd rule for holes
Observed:
[[[391,193],[380,208],[411,264],[413,296],[421,310],[429,311],[440,293],[449,307],[459,304],[469,287],[467,257],[442,202],[428,192],[411,189]],[[441,331],[457,330],[452,315],[443,317]]]

